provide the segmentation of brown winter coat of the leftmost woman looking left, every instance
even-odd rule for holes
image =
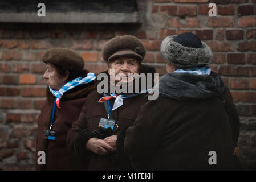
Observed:
[[[36,155],[36,170],[81,170],[83,165],[68,151],[66,138],[72,123],[79,117],[87,95],[95,90],[94,82],[77,86],[64,93],[60,100],[60,109],[56,107],[52,130],[56,132],[55,140],[43,137],[43,130],[49,129],[51,123],[54,96],[47,88],[46,101],[38,117],[38,137],[36,140],[36,154],[38,151],[46,153],[46,164],[38,165]]]

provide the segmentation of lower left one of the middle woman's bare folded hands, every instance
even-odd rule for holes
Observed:
[[[111,151],[114,151],[113,147],[99,138],[90,138],[86,143],[86,148],[87,150],[90,150],[98,155],[105,155]]]

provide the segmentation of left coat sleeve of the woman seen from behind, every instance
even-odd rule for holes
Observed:
[[[164,131],[163,112],[159,100],[148,100],[141,107],[133,126],[126,131],[124,150],[136,169],[148,169],[147,164]]]

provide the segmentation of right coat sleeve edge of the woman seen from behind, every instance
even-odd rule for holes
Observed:
[[[229,114],[229,122],[232,129],[232,138],[234,148],[237,146],[239,132],[240,132],[240,119],[233,103],[233,98],[227,87],[222,93],[222,99],[225,100],[226,110]]]

